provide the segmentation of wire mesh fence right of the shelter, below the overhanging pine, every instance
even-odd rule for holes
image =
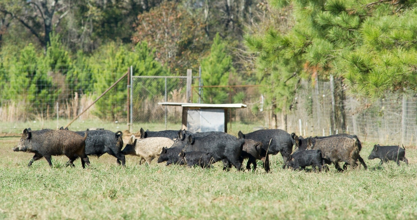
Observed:
[[[331,90],[329,82],[302,82],[296,110],[288,115],[288,129],[304,136],[331,135]],[[346,95],[346,133],[362,141],[414,146],[417,136],[417,98],[411,93],[386,93],[384,98],[365,99]],[[341,133],[342,131],[339,131]]]

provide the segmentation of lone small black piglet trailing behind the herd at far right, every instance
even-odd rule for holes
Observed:
[[[389,160],[395,161],[397,165],[400,165],[400,161],[404,161],[408,165],[408,160],[405,158],[405,147],[401,148],[400,146],[379,146],[374,145],[371,154],[369,154],[368,159],[372,160],[375,158],[381,159],[379,165],[382,165],[384,162],[387,163]]]

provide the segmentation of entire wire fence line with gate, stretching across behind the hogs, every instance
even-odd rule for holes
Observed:
[[[65,124],[61,120],[73,119],[102,92],[97,89],[94,82],[67,80],[65,75],[55,76],[52,77],[52,81],[45,84],[37,81],[35,89],[26,86],[19,88],[15,93],[7,92],[14,90],[13,85],[18,85],[20,82],[13,82],[12,79],[1,81],[3,90],[0,98],[0,133],[19,133],[29,125],[32,129],[63,126]],[[81,115],[78,122],[98,122],[97,126],[107,122],[127,124],[130,122],[131,111],[133,131],[138,130],[144,123],[168,123],[173,125],[166,127],[168,129],[181,128],[181,106],[162,106],[157,103],[187,102],[186,76],[133,76],[130,81],[131,88],[128,88],[127,81],[127,78],[123,79],[116,89],[110,90],[102,100]],[[229,111],[228,117],[231,122],[253,125],[254,129],[274,127],[273,110],[271,104],[264,101],[268,97],[262,94],[261,86],[199,87],[197,81],[198,77],[194,76],[192,102],[207,103],[208,93],[214,94],[213,96],[222,94],[220,98],[215,97],[212,100],[247,105],[247,108]],[[130,92],[131,110],[128,100]],[[344,109],[344,132],[358,135],[361,141],[415,145],[417,139],[415,93],[387,93],[380,99],[345,95],[341,104],[336,103],[336,108]],[[296,132],[303,136],[323,136],[335,132],[331,127],[333,106],[329,82],[318,81],[312,84],[309,81],[302,81],[295,99],[296,104],[287,114],[288,132]],[[284,129],[281,126],[282,118],[276,118],[278,128]],[[34,122],[38,123],[34,124]],[[120,125],[120,129],[123,128],[128,126]],[[341,133],[343,130],[336,132]]]

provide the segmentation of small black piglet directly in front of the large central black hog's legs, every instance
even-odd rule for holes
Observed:
[[[180,152],[180,165],[186,164],[188,167],[211,168],[212,163],[214,163],[212,153],[204,151]]]

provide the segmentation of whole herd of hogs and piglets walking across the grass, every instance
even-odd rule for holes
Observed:
[[[367,169],[360,155],[361,142],[356,135],[349,134],[303,138],[281,129],[262,129],[247,134],[239,131],[235,137],[219,131],[190,133],[186,130],[144,131],[141,128],[140,138],[130,136],[123,147],[121,131],[87,129],[74,132],[61,127],[59,130],[33,131],[27,128],[13,150],[35,154],[28,167],[42,157],[52,166],[51,156],[65,155],[69,158],[66,166],[74,167],[74,161],[79,157],[85,168],[90,164],[89,155],[100,157],[108,153],[122,166],[125,166],[125,155],[135,155],[140,157],[140,164],[150,164],[157,158],[158,163],[166,162],[167,166],[179,164],[210,168],[211,164],[222,161],[223,170],[229,170],[233,165],[240,171],[243,170],[243,160],[247,159],[247,170],[255,171],[257,160],[261,160],[263,169],[268,172],[268,155],[280,152],[284,169],[304,170],[311,166],[313,171],[316,168],[321,171],[323,166],[327,168],[326,164],[333,163],[338,171],[343,171],[348,165],[354,169],[358,161]],[[404,147],[375,145],[368,159],[374,158],[381,159],[380,164],[392,160],[398,165],[399,161],[408,165]],[[344,162],[342,168],[339,162]]]

